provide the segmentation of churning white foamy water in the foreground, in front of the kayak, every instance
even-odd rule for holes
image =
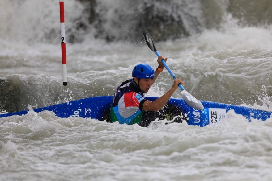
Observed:
[[[11,121],[12,119],[12,121]],[[30,111],[1,118],[1,180],[270,180],[271,118],[148,128]]]

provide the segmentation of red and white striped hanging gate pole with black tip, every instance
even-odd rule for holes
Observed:
[[[65,26],[64,26],[64,2],[60,0],[61,17],[61,45],[62,45],[62,75],[63,85],[67,85],[67,67],[66,67],[66,45],[65,45]]]

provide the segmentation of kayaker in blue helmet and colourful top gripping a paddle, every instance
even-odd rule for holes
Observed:
[[[148,101],[144,98],[144,93],[148,92],[159,73],[164,69],[162,59],[164,57],[158,57],[159,66],[155,71],[148,64],[136,65],[132,70],[133,79],[126,80],[118,86],[111,104],[110,122],[119,121],[120,124],[126,123],[128,125],[137,123],[140,126],[147,127],[156,118],[167,118],[167,115],[164,114],[165,109],[168,109],[168,115],[169,111],[172,111],[171,116],[176,116],[178,118],[176,121],[182,122],[180,109],[172,109],[173,105],[165,106],[178,88],[178,84],[183,84],[181,79],[174,80],[172,87],[155,101]],[[167,58],[164,60],[167,61]]]

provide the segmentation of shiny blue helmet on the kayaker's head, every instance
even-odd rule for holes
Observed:
[[[148,64],[138,64],[132,70],[132,77],[137,77],[137,79],[153,79],[155,72]]]

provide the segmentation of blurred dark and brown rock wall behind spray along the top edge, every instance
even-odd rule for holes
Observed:
[[[79,0],[85,7],[79,17],[66,27],[69,43],[82,42],[86,35],[108,42],[140,42],[148,30],[155,41],[179,39],[219,29],[226,15],[242,26],[267,25],[272,22],[269,0]],[[49,32],[49,35],[53,34]]]

